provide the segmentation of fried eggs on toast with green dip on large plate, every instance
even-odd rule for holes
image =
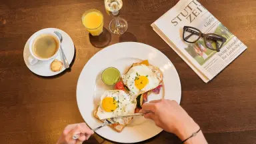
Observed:
[[[94,111],[97,119],[138,113],[141,105],[147,101],[148,95],[151,92],[159,94],[163,86],[163,73],[147,60],[133,63],[127,73],[121,75],[120,81],[119,74],[118,69],[114,67],[105,69],[101,74],[106,85],[115,83],[115,86],[113,90],[105,91],[101,95],[99,106]],[[109,126],[121,132],[132,119],[133,117],[116,119],[118,123]]]

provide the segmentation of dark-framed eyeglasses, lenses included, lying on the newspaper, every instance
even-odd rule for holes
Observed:
[[[205,46],[208,49],[219,52],[223,44],[227,41],[225,37],[215,33],[202,33],[195,27],[183,27],[183,40],[187,43],[196,43],[199,39],[204,38]]]

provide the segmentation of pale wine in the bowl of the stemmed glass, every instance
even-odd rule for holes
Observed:
[[[112,15],[118,15],[122,6],[122,0],[105,0],[105,9],[107,13],[112,13]]]

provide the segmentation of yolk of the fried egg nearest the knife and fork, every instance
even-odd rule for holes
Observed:
[[[113,112],[117,109],[117,101],[113,97],[105,97],[101,104],[102,108],[107,112]]]

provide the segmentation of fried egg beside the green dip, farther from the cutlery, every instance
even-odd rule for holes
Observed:
[[[138,96],[155,89],[163,80],[163,74],[158,67],[140,64],[131,67],[125,75],[122,75],[122,79],[133,95]]]

